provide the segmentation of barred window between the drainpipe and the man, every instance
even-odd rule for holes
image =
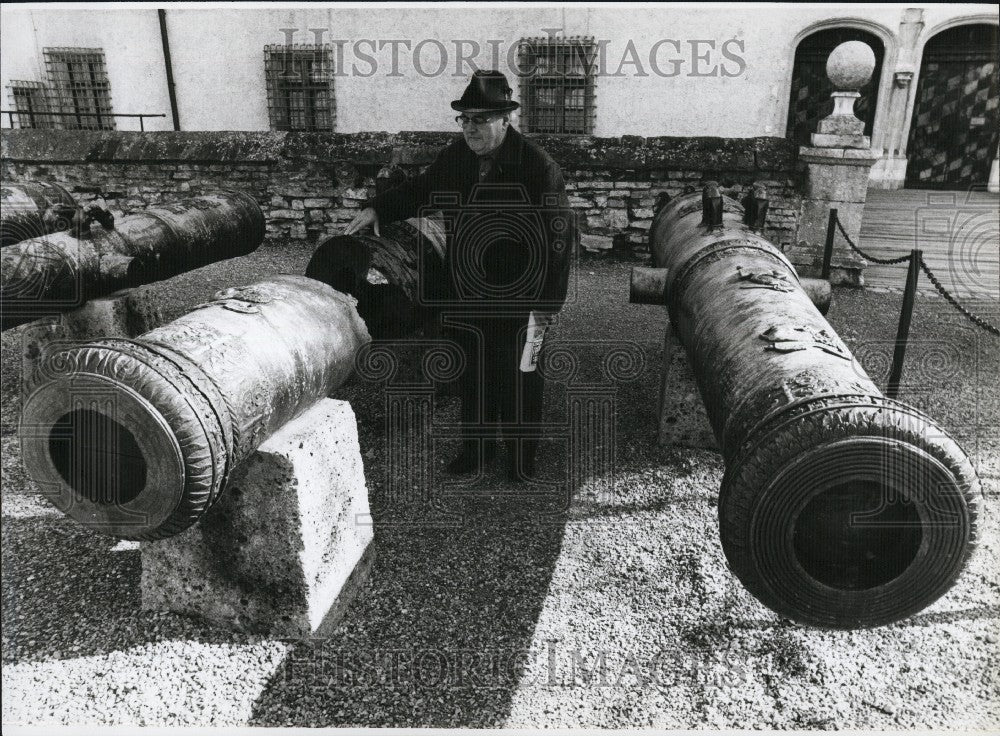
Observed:
[[[334,129],[333,62],[329,45],[264,48],[271,130]]]

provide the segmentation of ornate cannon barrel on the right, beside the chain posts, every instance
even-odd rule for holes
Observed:
[[[726,464],[726,557],[796,621],[905,618],[944,594],[971,554],[975,470],[933,420],[882,395],[743,214],[709,186],[667,203],[650,234]]]

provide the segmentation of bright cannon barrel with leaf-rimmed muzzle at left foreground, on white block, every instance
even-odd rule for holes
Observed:
[[[355,300],[304,276],[226,289],[135,340],[53,350],[24,402],[28,473],[60,510],[123,539],[193,524],[232,470],[351,374]]]

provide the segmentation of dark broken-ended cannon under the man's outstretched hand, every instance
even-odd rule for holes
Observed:
[[[327,238],[306,276],[354,296],[372,337],[400,337],[433,314],[433,295],[422,289],[445,283],[445,234],[431,218],[388,223],[380,232]]]

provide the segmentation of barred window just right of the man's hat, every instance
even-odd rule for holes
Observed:
[[[594,39],[522,38],[521,128],[526,133],[594,132]]]

